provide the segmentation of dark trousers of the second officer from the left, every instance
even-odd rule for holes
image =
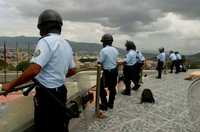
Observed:
[[[112,70],[103,70],[103,75],[100,82],[100,98],[101,104],[105,107],[107,105],[114,105],[115,95],[116,95],[116,85],[117,85],[118,70],[114,68]],[[106,98],[105,87],[109,90],[109,100]]]

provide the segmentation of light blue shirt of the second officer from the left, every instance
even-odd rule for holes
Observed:
[[[99,54],[99,62],[103,65],[103,68],[110,70],[117,67],[118,50],[115,47],[107,45],[101,49]]]

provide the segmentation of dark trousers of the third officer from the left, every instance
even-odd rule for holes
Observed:
[[[139,80],[140,80],[140,69],[138,68],[138,65],[133,66],[124,66],[123,69],[124,74],[124,84],[126,86],[127,92],[130,92],[131,90],[131,81],[134,83],[135,87],[139,86]]]

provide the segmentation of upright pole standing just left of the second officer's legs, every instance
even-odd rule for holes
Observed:
[[[99,115],[100,79],[101,79],[101,65],[97,65],[96,102],[95,102],[96,116]]]

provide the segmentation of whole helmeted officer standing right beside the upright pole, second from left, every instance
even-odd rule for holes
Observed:
[[[111,34],[104,34],[101,38],[103,43],[103,49],[101,49],[99,54],[99,63],[103,67],[103,74],[100,82],[100,98],[101,104],[100,109],[106,111],[107,108],[113,108],[114,100],[116,95],[116,85],[117,85],[117,57],[118,50],[112,46],[113,37]],[[105,87],[109,90],[109,99],[106,98]]]

